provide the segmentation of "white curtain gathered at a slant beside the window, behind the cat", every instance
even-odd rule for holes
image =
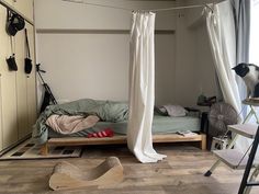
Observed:
[[[205,11],[214,66],[223,98],[239,113],[241,111],[241,99],[235,71],[232,70],[236,66],[236,32],[232,4],[227,0],[214,4],[213,12],[207,8]]]

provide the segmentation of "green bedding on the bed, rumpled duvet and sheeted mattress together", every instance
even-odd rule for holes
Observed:
[[[124,102],[113,101],[97,101],[91,99],[83,99],[70,103],[49,105],[40,115],[36,124],[33,127],[32,138],[36,144],[46,142],[48,137],[64,137],[65,135],[57,134],[45,125],[48,116],[53,114],[58,115],[97,115],[101,122],[98,122],[91,128],[81,130],[79,133],[66,135],[69,137],[85,137],[89,133],[95,133],[105,128],[111,128],[115,134],[126,135],[127,133],[127,117],[128,105]],[[170,117],[154,115],[153,134],[168,134],[183,130],[200,130],[200,119],[195,116]]]

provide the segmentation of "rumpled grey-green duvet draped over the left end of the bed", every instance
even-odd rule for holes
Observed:
[[[49,105],[40,115],[33,126],[32,138],[35,144],[44,144],[48,137],[46,119],[53,115],[97,115],[103,122],[122,122],[127,119],[128,105],[124,102],[97,101],[91,99],[78,100],[65,104]]]

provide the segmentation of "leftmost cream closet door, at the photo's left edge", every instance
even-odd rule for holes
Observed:
[[[18,140],[16,71],[10,71],[5,58],[11,55],[10,37],[5,33],[7,9],[0,7],[0,72],[2,148]]]

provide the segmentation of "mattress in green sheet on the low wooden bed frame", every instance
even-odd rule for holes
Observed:
[[[90,133],[97,133],[111,128],[117,135],[126,135],[127,121],[119,123],[99,122],[95,126],[70,135],[61,135],[54,130],[48,132],[48,137],[86,137]],[[194,116],[170,117],[154,115],[153,134],[172,134],[177,132],[200,132],[200,118]]]

